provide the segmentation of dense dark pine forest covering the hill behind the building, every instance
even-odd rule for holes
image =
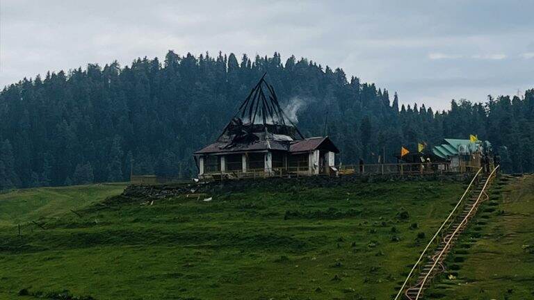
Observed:
[[[305,58],[169,51],[163,62],[88,65],[6,86],[0,190],[124,181],[131,173],[193,176],[193,151],[220,134],[265,72],[300,131],[330,135],[343,164],[378,162],[382,152],[394,161],[401,145],[415,151],[417,142],[477,134],[492,142],[505,171],[534,171],[534,90],[453,100],[439,112],[399,107],[396,94]]]

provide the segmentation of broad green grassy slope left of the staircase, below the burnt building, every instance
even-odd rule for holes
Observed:
[[[24,214],[2,210],[0,299],[388,299],[462,193],[438,182],[293,185],[150,205],[97,204],[116,192],[99,188],[2,195]],[[25,193],[46,204],[15,209]],[[90,205],[76,197],[91,193]],[[60,214],[74,206],[81,217]],[[8,225],[47,214],[46,229],[21,237]]]

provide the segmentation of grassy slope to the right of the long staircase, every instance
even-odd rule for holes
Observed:
[[[534,176],[496,185],[449,260],[435,298],[534,299]],[[443,276],[445,277],[445,276]]]

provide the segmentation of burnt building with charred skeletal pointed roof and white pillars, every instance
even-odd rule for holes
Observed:
[[[264,74],[218,139],[194,157],[200,178],[312,176],[337,172],[335,153],[327,136],[305,138],[298,131]]]

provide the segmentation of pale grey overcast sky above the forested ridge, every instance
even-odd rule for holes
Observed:
[[[172,49],[293,54],[439,109],[534,88],[534,1],[252,2],[0,0],[0,86]]]

